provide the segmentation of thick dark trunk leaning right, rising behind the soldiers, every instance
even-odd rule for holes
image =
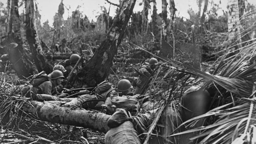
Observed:
[[[105,40],[85,67],[78,72],[78,79],[88,86],[96,86],[107,76],[117,53],[136,0],[124,0]],[[77,78],[76,77],[76,78]],[[76,80],[76,79],[74,79]]]

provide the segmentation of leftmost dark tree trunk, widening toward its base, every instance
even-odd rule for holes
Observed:
[[[28,77],[32,74],[33,69],[31,67],[32,63],[26,58],[27,55],[22,47],[18,0],[8,0],[8,7],[9,17],[8,27],[6,28],[8,37],[4,41],[4,45],[9,53],[12,68],[17,72],[18,76]]]

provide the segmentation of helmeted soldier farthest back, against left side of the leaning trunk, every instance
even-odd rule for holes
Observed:
[[[63,60],[59,63],[59,65],[64,66],[64,68],[67,70],[67,73],[69,74],[79,59],[80,56],[78,54],[72,54],[69,60]]]

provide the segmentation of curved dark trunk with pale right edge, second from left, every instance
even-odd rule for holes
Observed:
[[[47,74],[52,72],[52,65],[44,57],[42,47],[38,38],[37,28],[36,28],[36,15],[34,0],[26,0],[26,37],[30,50],[33,55],[34,62],[38,72],[45,71]]]

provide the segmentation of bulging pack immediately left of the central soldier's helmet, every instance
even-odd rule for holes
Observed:
[[[95,88],[95,93],[106,98],[108,93],[112,90],[114,90],[113,84],[109,83],[108,80],[104,80],[97,85],[97,87]]]

